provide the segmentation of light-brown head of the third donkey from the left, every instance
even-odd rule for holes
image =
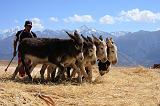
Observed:
[[[92,35],[94,44],[96,45],[96,55],[97,59],[101,60],[102,62],[107,61],[107,45],[106,42],[101,38],[96,38]]]

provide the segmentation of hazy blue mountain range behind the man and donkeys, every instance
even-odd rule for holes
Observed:
[[[0,34],[0,60],[10,60],[13,52],[13,39],[19,29],[10,30]],[[137,31],[137,32],[105,32],[87,26],[76,29],[84,36],[94,34],[103,38],[112,37],[118,47],[118,64],[120,66],[152,66],[160,63],[160,30],[159,31]],[[38,37],[63,38],[68,36],[63,30],[45,29],[36,31]],[[67,30],[73,31],[73,30]]]

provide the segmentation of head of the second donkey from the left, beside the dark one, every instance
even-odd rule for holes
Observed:
[[[96,56],[96,46],[93,42],[93,39],[91,37],[84,37],[83,35],[81,35],[84,42],[84,46],[83,46],[83,55],[85,57],[85,59],[87,60],[91,60],[93,64],[96,63],[97,61],[97,56]]]

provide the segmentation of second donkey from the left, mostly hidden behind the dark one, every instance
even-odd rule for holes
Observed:
[[[85,71],[85,67],[86,66],[90,66],[92,64],[96,63],[97,57],[96,57],[96,46],[94,45],[93,39],[90,37],[85,38],[83,35],[81,35],[84,42],[83,42],[83,55],[84,55],[84,59],[82,61],[77,61],[76,65],[78,66],[78,68],[80,69],[80,72],[83,76],[86,77],[86,79],[88,79],[88,75]],[[52,80],[54,79],[55,76],[55,70],[56,70],[56,66],[48,66],[47,68],[47,79],[50,79],[50,74],[52,73]],[[46,67],[42,67],[41,71],[45,71]],[[67,72],[70,71],[70,68],[68,68]],[[75,74],[75,70],[73,70],[73,73]],[[72,74],[71,76],[73,76],[74,74]],[[69,74],[67,74],[68,77],[70,78],[70,72]]]

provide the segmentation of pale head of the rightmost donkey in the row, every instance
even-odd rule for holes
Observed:
[[[106,44],[107,44],[107,56],[108,56],[108,61],[111,64],[116,64],[118,61],[117,57],[117,46],[114,43],[112,38],[106,38]]]

